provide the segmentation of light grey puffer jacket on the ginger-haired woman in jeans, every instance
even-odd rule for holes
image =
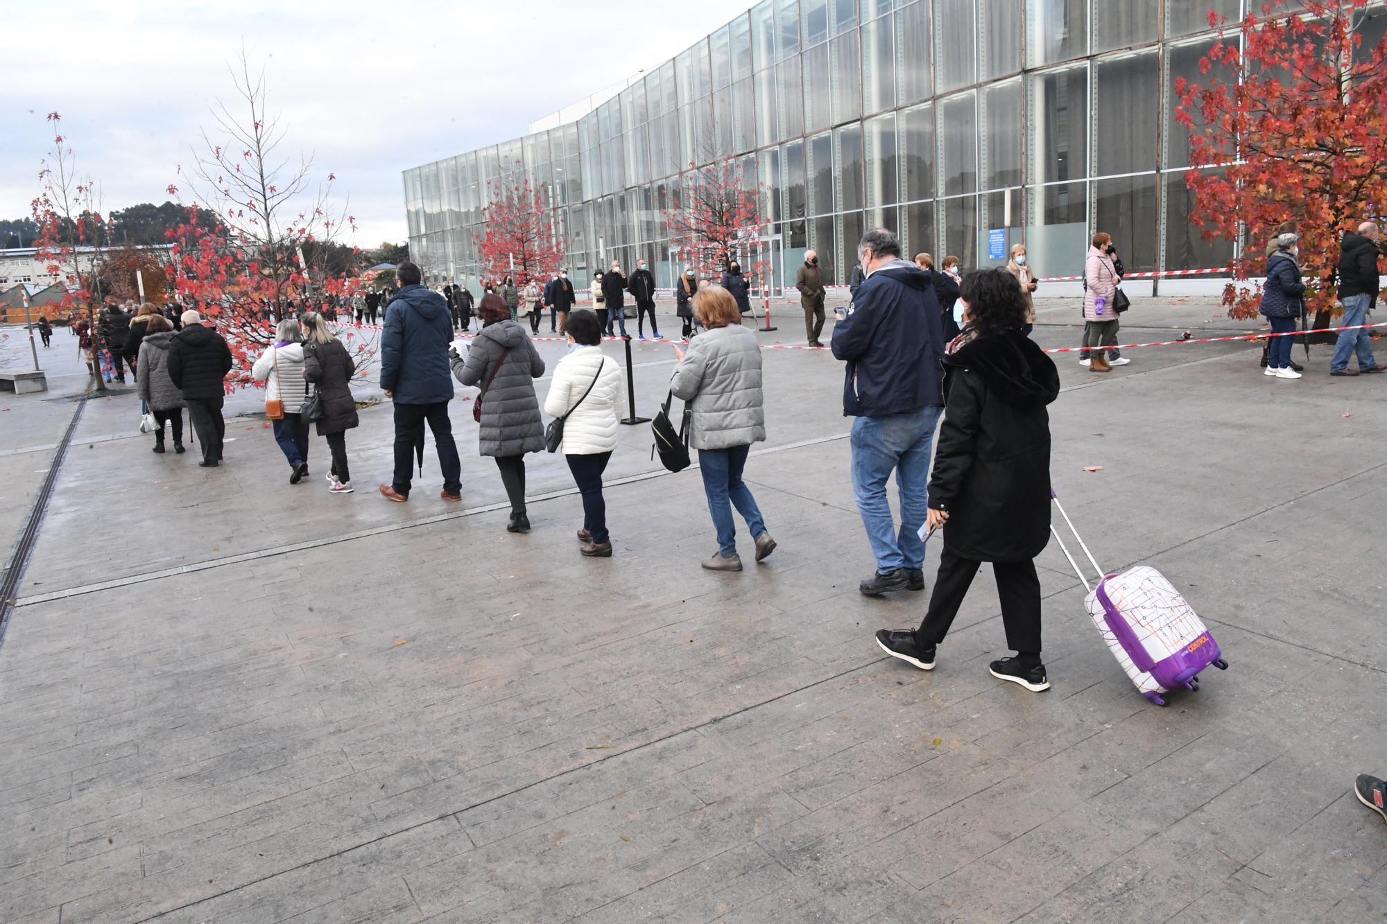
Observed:
[[[728,450],[766,438],[761,348],[742,325],[712,327],[689,343],[670,380],[689,402],[689,445]]]

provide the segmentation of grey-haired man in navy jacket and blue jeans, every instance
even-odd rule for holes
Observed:
[[[865,276],[853,311],[834,329],[834,355],[847,362],[843,415],[853,420],[853,495],[877,573],[859,590],[868,597],[925,588],[929,451],[943,411],[943,330],[929,276],[902,259],[889,230],[857,246]],[[886,501],[896,472],[900,529]]]

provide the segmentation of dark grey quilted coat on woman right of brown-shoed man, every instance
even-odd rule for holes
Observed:
[[[492,370],[497,370],[494,380]],[[524,327],[513,320],[487,325],[472,343],[467,358],[452,361],[452,375],[462,384],[484,391],[477,437],[481,455],[524,455],[544,448],[540,400],[534,394],[534,380],[544,375],[544,359]]]

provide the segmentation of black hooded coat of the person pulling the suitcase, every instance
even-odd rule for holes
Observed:
[[[1050,541],[1050,413],[1060,372],[1019,330],[945,358],[929,506],[949,512],[945,545],[979,562],[1024,562]]]

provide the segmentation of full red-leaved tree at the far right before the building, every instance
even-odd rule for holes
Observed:
[[[1232,318],[1258,312],[1265,246],[1277,225],[1300,223],[1301,266],[1320,284],[1305,293],[1315,326],[1334,308],[1344,230],[1387,204],[1387,42],[1362,47],[1366,0],[1272,0],[1200,61],[1241,75],[1203,85],[1178,79],[1176,119],[1190,129],[1191,221],[1205,237],[1240,241],[1223,290]],[[1212,12],[1209,25],[1227,24]],[[1243,39],[1239,51],[1236,36]]]

